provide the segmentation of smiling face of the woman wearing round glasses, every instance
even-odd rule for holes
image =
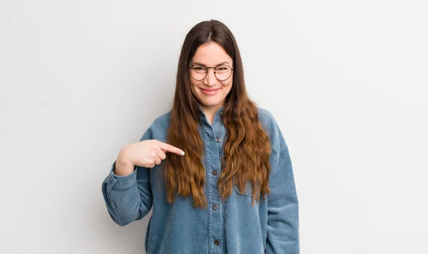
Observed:
[[[233,67],[232,58],[226,53],[222,46],[215,42],[209,42],[208,44],[199,46],[195,56],[193,56],[193,59],[190,61],[190,66],[195,66],[196,64],[206,67],[216,67],[220,64],[225,64]],[[197,71],[200,71],[200,69],[201,68],[198,68]],[[221,76],[222,74],[220,74],[223,70],[224,68],[221,68],[221,66],[218,68],[217,76],[220,79],[223,79]],[[225,81],[220,81],[215,76],[214,68],[207,68],[207,71],[207,76],[200,81],[195,80],[195,78],[189,75],[190,86],[193,95],[198,98],[203,110],[215,111],[220,108],[220,106],[224,105],[226,96],[230,92],[230,88],[232,88],[233,71],[231,71],[230,77]]]

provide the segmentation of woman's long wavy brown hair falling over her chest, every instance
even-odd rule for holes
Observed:
[[[183,197],[192,195],[193,206],[207,206],[203,194],[205,168],[202,156],[205,151],[198,132],[200,112],[198,100],[190,88],[188,64],[196,49],[210,41],[223,47],[233,59],[234,68],[232,88],[226,96],[221,115],[227,133],[218,190],[225,200],[233,191],[233,181],[240,191],[245,190],[249,181],[253,187],[253,205],[256,199],[260,201],[260,194],[270,192],[270,141],[259,123],[257,106],[248,98],[243,63],[235,38],[225,24],[216,20],[196,24],[185,36],[181,49],[167,142],[180,147],[185,156],[169,153],[164,161],[166,198],[173,203],[177,191]]]

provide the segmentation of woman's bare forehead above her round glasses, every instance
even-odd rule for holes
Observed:
[[[226,53],[222,46],[215,42],[200,45],[192,59],[192,63],[198,62],[207,66],[215,66],[225,61],[232,64],[232,58]]]

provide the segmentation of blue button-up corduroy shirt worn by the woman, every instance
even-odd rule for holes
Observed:
[[[203,166],[206,172],[204,194],[208,208],[194,208],[191,197],[175,195],[168,203],[161,177],[163,163],[153,168],[136,166],[128,176],[110,173],[102,183],[108,213],[118,225],[140,220],[153,209],[145,248],[148,254],[170,253],[299,253],[299,212],[292,163],[287,144],[272,114],[258,108],[259,121],[270,138],[270,193],[252,202],[250,182],[243,193],[233,185],[232,195],[220,200],[217,181],[222,170],[220,155],[226,128],[220,113],[213,124],[200,111],[200,135],[205,145]],[[156,139],[166,143],[170,111],[158,116],[140,141]]]

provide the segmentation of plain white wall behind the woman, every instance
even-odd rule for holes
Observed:
[[[0,1],[0,252],[144,253],[101,182],[173,100],[185,34],[233,32],[277,120],[301,253],[428,253],[427,1]]]

